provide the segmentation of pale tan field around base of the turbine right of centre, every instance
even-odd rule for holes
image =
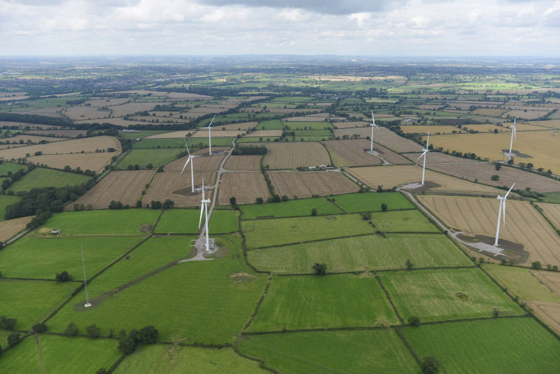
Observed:
[[[384,188],[401,186],[407,183],[419,183],[422,180],[422,168],[416,165],[390,165],[372,167],[351,167],[346,172],[352,174],[359,181],[372,188],[381,185]],[[454,178],[445,174],[426,170],[425,182],[436,183],[439,186],[428,188],[424,191],[434,193],[472,193],[482,195],[495,193],[496,188],[484,186],[463,179]]]

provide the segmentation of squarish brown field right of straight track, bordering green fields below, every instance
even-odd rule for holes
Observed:
[[[235,197],[237,204],[251,204],[256,198],[266,201],[270,196],[261,172],[223,173],[218,188],[218,205],[229,205],[232,196]]]

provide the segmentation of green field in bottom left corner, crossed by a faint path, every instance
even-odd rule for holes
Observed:
[[[116,349],[117,341],[112,339],[92,340],[56,335],[39,335],[39,339],[46,373],[77,373],[86,368],[88,371],[83,372],[95,373],[99,368],[109,369],[120,357]],[[33,336],[28,336],[2,356],[2,371],[41,373],[41,361]]]

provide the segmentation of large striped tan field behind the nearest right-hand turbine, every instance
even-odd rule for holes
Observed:
[[[451,228],[467,231],[470,235],[496,236],[500,206],[496,198],[416,197]],[[505,222],[505,226],[500,226],[500,239],[523,244],[524,251],[530,254],[524,265],[533,261],[560,264],[560,237],[531,204],[508,200]]]

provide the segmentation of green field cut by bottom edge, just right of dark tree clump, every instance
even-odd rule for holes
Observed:
[[[137,373],[268,373],[258,362],[244,359],[231,348],[208,349],[179,345],[142,345],[126,356],[115,374]]]

